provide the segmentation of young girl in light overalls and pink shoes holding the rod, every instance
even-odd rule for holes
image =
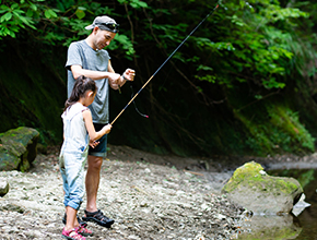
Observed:
[[[92,231],[79,225],[77,213],[84,196],[84,165],[89,145],[95,147],[103,135],[108,134],[111,125],[105,125],[96,132],[93,125],[90,106],[96,94],[95,82],[80,76],[73,86],[71,96],[64,104],[62,113],[63,144],[60,151],[59,165],[63,181],[66,206],[66,226],[62,237],[71,240],[85,240],[82,236],[92,236]]]

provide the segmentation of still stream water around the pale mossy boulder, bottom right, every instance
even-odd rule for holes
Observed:
[[[251,231],[242,235],[239,239],[317,239],[317,169],[284,169],[267,172],[271,176],[297,179],[304,189],[305,202],[310,206],[295,215],[254,216],[249,223]]]

